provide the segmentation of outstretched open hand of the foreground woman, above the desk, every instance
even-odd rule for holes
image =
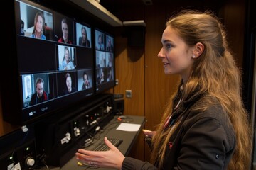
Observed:
[[[114,147],[114,145],[107,140],[107,137],[105,137],[104,140],[106,145],[110,147],[110,150],[89,151],[85,149],[78,149],[78,152],[75,153],[76,159],[88,164],[89,166],[121,169],[122,162],[125,158],[124,155],[119,151],[119,149],[117,149],[117,147]]]

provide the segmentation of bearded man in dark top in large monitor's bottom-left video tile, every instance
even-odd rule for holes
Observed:
[[[42,103],[48,100],[48,93],[44,91],[44,81],[38,77],[36,79],[36,92],[32,94],[29,106],[33,106],[38,103]]]

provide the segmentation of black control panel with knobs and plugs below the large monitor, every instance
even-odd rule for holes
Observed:
[[[36,125],[37,151],[46,156],[46,164],[61,167],[74,157],[85,140],[113,118],[112,107],[112,96],[100,96],[75,109],[75,114],[62,112]]]

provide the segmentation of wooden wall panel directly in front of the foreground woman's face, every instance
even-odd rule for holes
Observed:
[[[162,47],[161,35],[166,23],[166,11],[162,7],[146,8],[145,128],[149,130],[155,130],[160,123],[166,103],[178,82],[177,76],[164,74],[163,62],[157,57]],[[146,161],[150,160],[150,155],[151,151],[146,145]]]

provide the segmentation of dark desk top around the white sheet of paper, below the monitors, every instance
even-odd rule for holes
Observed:
[[[137,139],[137,136],[142,131],[142,128],[145,123],[145,117],[144,116],[137,116],[137,115],[126,115],[127,118],[122,119],[122,121],[117,120],[117,117],[114,117],[110,121],[110,123],[107,123],[103,130],[101,132],[98,132],[97,135],[99,135],[97,138],[98,140],[95,140],[95,143],[91,145],[90,147],[86,147],[85,149],[92,149],[97,143],[99,143],[105,136],[107,137],[113,137],[113,138],[119,138],[122,139],[122,143],[117,147],[124,156],[127,156],[129,154],[130,149],[134,145],[134,142]],[[122,131],[122,130],[116,130],[117,127],[120,125],[120,123],[134,123],[141,125],[138,132],[128,132],[128,131]],[[95,135],[96,137],[96,135]],[[78,161],[75,159],[75,153],[74,157],[70,159],[63,167],[61,168],[54,168],[52,170],[84,170],[84,169],[95,169],[95,168],[87,168],[87,166],[78,166]],[[97,168],[97,169],[103,169],[103,168]],[[105,168],[104,168],[105,169]],[[105,169],[107,170],[107,169]]]

